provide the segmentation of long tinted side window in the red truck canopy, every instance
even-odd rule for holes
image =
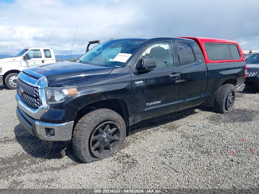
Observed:
[[[240,59],[236,44],[205,43],[204,47],[210,60]]]

